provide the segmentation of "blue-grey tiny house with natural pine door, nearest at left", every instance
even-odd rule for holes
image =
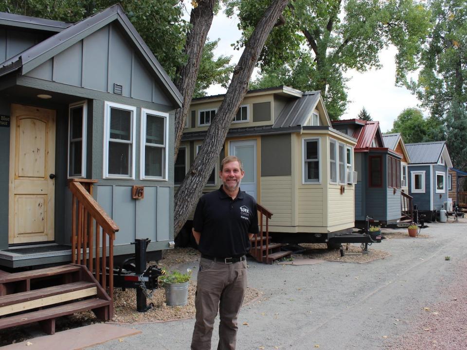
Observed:
[[[0,267],[70,261],[71,180],[119,226],[115,255],[168,248],[181,96],[122,7],[75,24],[0,13],[0,62]]]

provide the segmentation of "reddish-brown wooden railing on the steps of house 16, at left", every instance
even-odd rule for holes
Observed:
[[[119,227],[92,197],[92,185],[96,182],[72,179],[68,184],[72,192],[72,263],[88,267],[113,300],[113,242]]]

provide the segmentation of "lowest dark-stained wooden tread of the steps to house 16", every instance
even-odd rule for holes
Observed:
[[[20,326],[32,322],[44,321],[55,317],[72,315],[77,312],[88,311],[109,306],[111,301],[91,298],[75,301],[70,304],[54,306],[48,309],[33,311],[25,314],[0,318],[0,329]]]

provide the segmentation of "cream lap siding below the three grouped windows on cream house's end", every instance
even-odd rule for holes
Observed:
[[[348,224],[353,227],[355,222],[354,210],[355,192],[353,186],[345,186],[345,192],[341,194],[340,186],[329,187],[328,222],[329,227]],[[332,231],[332,229],[331,229]]]

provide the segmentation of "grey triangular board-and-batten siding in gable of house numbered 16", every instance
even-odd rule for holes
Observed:
[[[109,24],[53,58],[26,76],[56,83],[114,92],[122,86],[122,96],[172,105],[145,68],[145,63],[122,35],[116,24]]]

